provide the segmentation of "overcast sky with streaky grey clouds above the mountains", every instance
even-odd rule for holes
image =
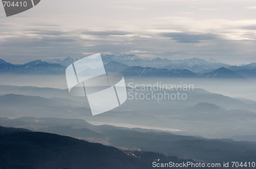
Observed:
[[[256,62],[256,1],[41,0],[10,17],[0,5],[1,59],[25,63],[98,52]]]

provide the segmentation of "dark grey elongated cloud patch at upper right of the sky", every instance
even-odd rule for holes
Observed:
[[[203,40],[212,40],[218,38],[218,36],[213,34],[199,33],[161,33],[160,36],[169,37],[179,43],[200,43]]]

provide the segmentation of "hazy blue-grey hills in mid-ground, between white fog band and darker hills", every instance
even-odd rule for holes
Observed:
[[[150,89],[139,88],[127,88],[127,91],[144,95],[152,92]],[[156,94],[164,92],[172,94],[177,91],[155,91]],[[183,93],[187,95],[186,100],[166,99],[159,102],[130,99],[133,93],[129,93],[128,99],[120,107],[92,117],[86,97],[70,96],[68,90],[0,86],[0,106],[1,116],[10,118],[79,118],[103,124],[147,126],[210,138],[225,138],[241,132],[256,135],[254,101],[231,98],[202,89]]]

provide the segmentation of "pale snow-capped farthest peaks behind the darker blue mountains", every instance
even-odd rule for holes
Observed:
[[[81,57],[82,58],[82,57]],[[67,67],[68,65],[72,64],[73,62],[81,59],[81,58],[65,58],[65,59],[57,59],[57,60],[51,60],[50,63],[57,63],[62,66]],[[110,63],[110,62],[117,62],[121,64],[125,64],[127,66],[141,66],[141,67],[152,67],[152,68],[166,68],[169,70],[172,69],[188,69],[193,72],[200,72],[203,70],[209,70],[209,69],[218,69],[221,67],[228,68],[230,65],[219,63],[214,59],[211,59],[209,61],[205,61],[204,59],[199,58],[192,58],[192,59],[184,59],[184,60],[169,60],[169,59],[161,59],[161,58],[155,58],[155,59],[142,59],[139,58],[136,54],[121,54],[121,55],[115,55],[115,54],[102,54],[101,55],[102,61],[104,65]]]

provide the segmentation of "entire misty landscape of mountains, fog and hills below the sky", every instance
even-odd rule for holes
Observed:
[[[0,168],[33,168],[34,164],[30,162],[36,163],[35,160],[41,158],[40,165],[45,167],[62,167],[61,161],[66,161],[66,166],[78,163],[82,168],[85,163],[79,163],[81,159],[77,156],[93,159],[88,155],[92,151],[89,147],[106,150],[98,157],[94,154],[95,159],[101,161],[96,168],[115,168],[104,163],[104,159],[115,161],[118,165],[123,163],[119,165],[122,168],[143,168],[142,165],[150,168],[152,161],[158,159],[183,161],[183,158],[188,158],[204,162],[255,159],[256,102],[254,81],[250,80],[256,77],[255,63],[230,66],[197,58],[147,60],[133,54],[103,55],[102,59],[106,71],[124,75],[127,100],[98,116],[92,116],[86,97],[71,96],[66,88],[65,69],[78,59],[38,60],[23,65],[0,60],[3,79],[0,85],[0,126],[36,131],[9,131],[0,127],[1,150],[13,157],[15,150],[24,154],[28,149],[26,159],[31,159],[22,161],[22,156],[15,156],[16,161],[11,163],[0,153],[3,157]],[[16,81],[27,80],[29,85],[16,85]],[[54,82],[65,87],[48,87]],[[47,87],[44,84],[40,87],[40,83],[47,83]],[[156,88],[143,88],[143,85],[156,85]],[[172,87],[165,89],[163,85]],[[184,85],[191,85],[191,90],[183,90]],[[136,94],[171,96],[177,93],[186,95],[186,99],[134,98]],[[233,97],[232,94],[237,95]],[[67,135],[119,147],[124,151],[41,132]],[[34,136],[40,139],[33,141]],[[10,144],[7,145],[7,142]],[[62,143],[65,146],[59,148]],[[41,145],[46,147],[40,150]],[[62,154],[61,157],[53,149]],[[133,165],[129,164],[129,160]]]

